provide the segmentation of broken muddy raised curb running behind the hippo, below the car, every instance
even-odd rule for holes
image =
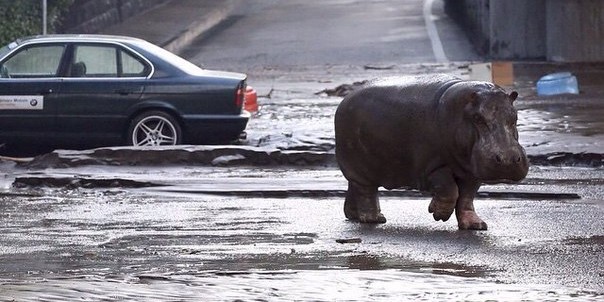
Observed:
[[[532,165],[604,166],[604,154],[528,154]],[[69,168],[86,165],[107,166],[320,166],[337,167],[335,154],[325,151],[266,149],[251,146],[162,146],[156,148],[107,147],[91,150],[56,150],[31,160],[18,162],[27,169]]]

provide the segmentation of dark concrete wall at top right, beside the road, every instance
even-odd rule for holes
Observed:
[[[444,0],[491,59],[604,60],[602,0]]]

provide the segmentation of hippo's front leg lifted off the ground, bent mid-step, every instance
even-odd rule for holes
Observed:
[[[455,210],[459,197],[459,189],[449,168],[440,168],[428,176],[432,201],[428,212],[432,213],[434,220],[447,221]]]

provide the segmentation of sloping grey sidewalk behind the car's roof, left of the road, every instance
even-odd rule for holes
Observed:
[[[224,21],[239,0],[172,0],[106,28],[100,34],[132,36],[178,53]]]

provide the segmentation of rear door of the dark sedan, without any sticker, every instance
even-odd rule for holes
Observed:
[[[74,144],[121,143],[127,108],[143,93],[149,64],[113,43],[73,43],[70,52],[57,135]]]

